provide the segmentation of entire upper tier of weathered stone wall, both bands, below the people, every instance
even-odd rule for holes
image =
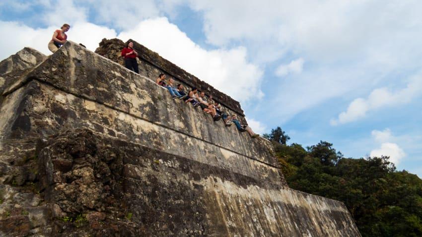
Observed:
[[[244,167],[250,168],[243,173],[256,173],[261,170],[256,168],[262,167],[260,177],[283,180],[272,145],[266,139],[251,139],[235,126],[213,121],[201,108],[172,99],[167,89],[149,78],[79,45],[65,44],[21,80],[15,84],[24,86],[4,92],[11,96],[5,99],[2,109],[8,104],[16,106],[17,101],[11,98],[22,94],[17,107],[23,112],[11,118],[17,119],[16,124],[5,122],[4,126],[9,127],[2,129],[3,137],[53,135],[63,127],[88,127],[234,170],[243,169],[237,162],[245,160]]]

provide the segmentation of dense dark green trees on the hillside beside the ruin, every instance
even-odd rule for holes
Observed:
[[[321,141],[303,148],[292,143],[280,127],[271,140],[291,188],[346,204],[366,237],[422,236],[422,180],[396,171],[388,157],[351,159]]]

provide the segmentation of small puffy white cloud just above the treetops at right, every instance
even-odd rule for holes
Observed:
[[[401,160],[406,157],[406,153],[403,151],[403,149],[397,143],[392,142],[396,140],[396,138],[393,136],[389,128],[386,128],[383,131],[373,130],[371,135],[375,142],[380,144],[380,147],[373,149],[369,156],[389,156],[390,162],[394,163],[395,165],[398,165]]]

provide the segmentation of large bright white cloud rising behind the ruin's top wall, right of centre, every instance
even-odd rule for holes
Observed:
[[[119,38],[136,40],[236,100],[263,96],[263,72],[247,61],[244,47],[205,50],[165,17],[144,20]]]

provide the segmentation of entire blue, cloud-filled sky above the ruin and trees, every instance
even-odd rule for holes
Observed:
[[[257,132],[389,155],[421,177],[421,12],[419,0],[3,0],[0,59],[50,54],[63,23],[90,50],[132,38],[239,100]]]

